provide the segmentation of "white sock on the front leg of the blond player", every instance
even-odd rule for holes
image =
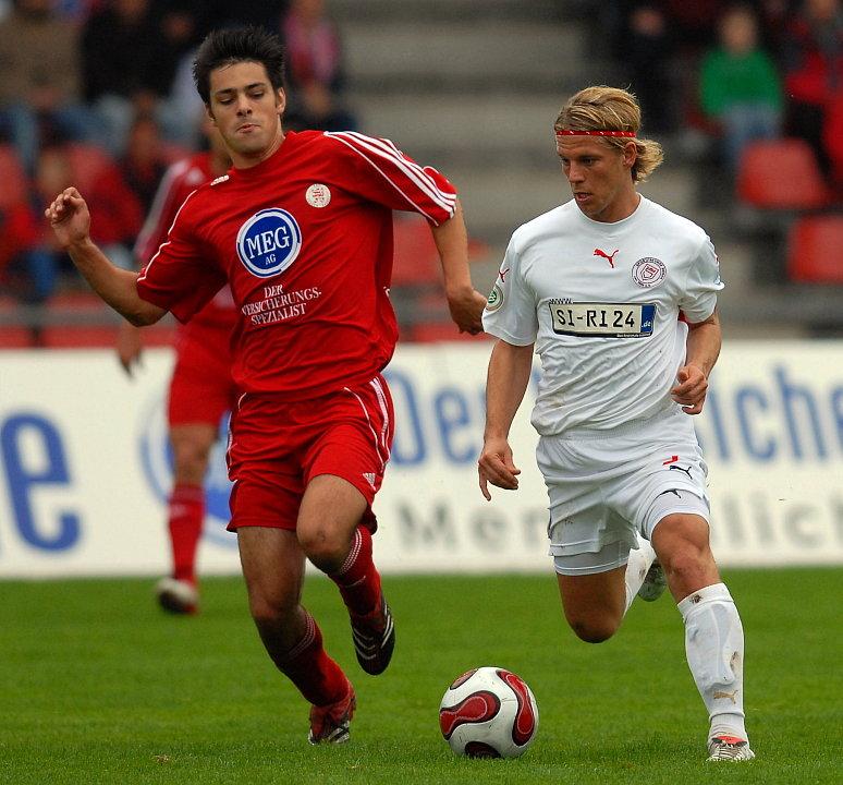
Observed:
[[[685,654],[708,709],[708,737],[737,736],[744,727],[744,628],[724,583],[686,596],[677,605],[685,620]]]

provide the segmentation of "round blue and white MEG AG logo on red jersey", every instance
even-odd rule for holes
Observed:
[[[295,218],[280,207],[255,213],[237,232],[237,256],[258,278],[283,273],[302,250],[302,230]]]

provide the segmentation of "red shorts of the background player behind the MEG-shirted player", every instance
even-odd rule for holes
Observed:
[[[180,330],[170,379],[170,425],[209,423],[217,427],[234,407],[230,338],[227,327],[188,324]]]

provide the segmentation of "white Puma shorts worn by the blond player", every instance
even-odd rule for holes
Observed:
[[[708,467],[680,411],[611,431],[542,436],[536,459],[550,499],[550,555],[562,575],[625,565],[636,535],[649,540],[668,515],[709,519]]]

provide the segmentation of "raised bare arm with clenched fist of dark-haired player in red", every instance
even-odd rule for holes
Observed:
[[[114,266],[90,239],[90,213],[75,188],[62,191],[44,212],[56,239],[91,289],[134,325],[158,322],[167,312],[137,293],[137,275]]]

